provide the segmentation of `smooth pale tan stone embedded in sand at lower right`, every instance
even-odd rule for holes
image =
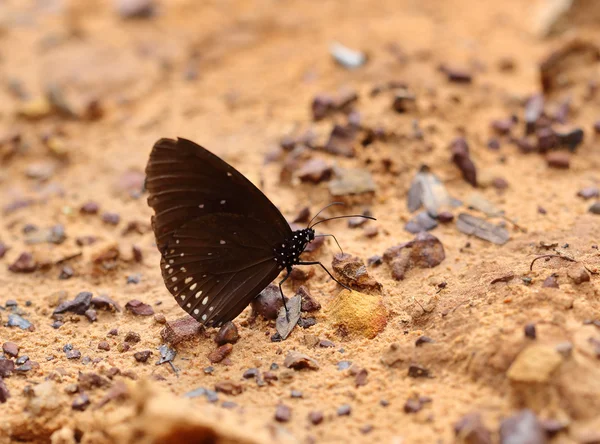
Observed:
[[[513,382],[544,383],[561,362],[562,357],[552,347],[530,345],[517,355],[506,374]]]

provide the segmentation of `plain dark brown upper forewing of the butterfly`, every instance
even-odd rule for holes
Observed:
[[[237,214],[265,225],[272,245],[289,238],[291,229],[273,203],[239,171],[186,139],[161,139],[146,167],[148,204],[158,248],[186,223],[211,214]]]

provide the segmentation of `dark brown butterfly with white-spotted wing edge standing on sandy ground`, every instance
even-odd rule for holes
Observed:
[[[277,207],[239,171],[182,138],[154,144],[145,188],[165,285],[181,308],[209,327],[236,318],[285,271],[279,282],[283,299],[282,284],[294,265],[320,265],[338,282],[321,262],[300,259],[321,236],[313,227],[342,217],[373,219],[337,216],[311,225],[317,214],[306,228],[292,231]]]

